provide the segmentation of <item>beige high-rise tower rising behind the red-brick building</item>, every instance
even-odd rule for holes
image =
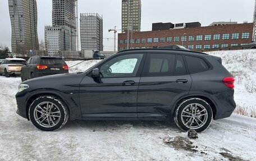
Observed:
[[[128,17],[129,17],[129,30],[140,31],[140,23],[141,23],[141,1],[140,0],[122,0],[122,33],[124,33],[128,28],[127,27]]]

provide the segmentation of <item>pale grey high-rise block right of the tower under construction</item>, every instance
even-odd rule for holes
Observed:
[[[82,50],[103,50],[103,20],[98,13],[80,13]]]

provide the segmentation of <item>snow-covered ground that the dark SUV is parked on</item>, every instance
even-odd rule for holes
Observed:
[[[76,70],[90,65],[81,63]],[[251,76],[249,72],[248,75]],[[236,114],[213,121],[196,140],[188,139],[173,123],[157,121],[70,121],[61,130],[40,131],[15,113],[15,94],[20,82],[20,77],[0,76],[0,160],[256,158],[256,119]],[[248,102],[253,104],[254,99]]]

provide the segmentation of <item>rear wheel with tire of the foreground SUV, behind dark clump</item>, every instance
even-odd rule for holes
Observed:
[[[189,98],[178,105],[174,121],[183,131],[192,128],[196,132],[202,132],[209,127],[212,117],[212,108],[205,100]]]

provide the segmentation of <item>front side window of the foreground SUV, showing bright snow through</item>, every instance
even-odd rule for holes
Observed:
[[[115,57],[100,67],[100,77],[134,77],[143,54],[126,54]]]

